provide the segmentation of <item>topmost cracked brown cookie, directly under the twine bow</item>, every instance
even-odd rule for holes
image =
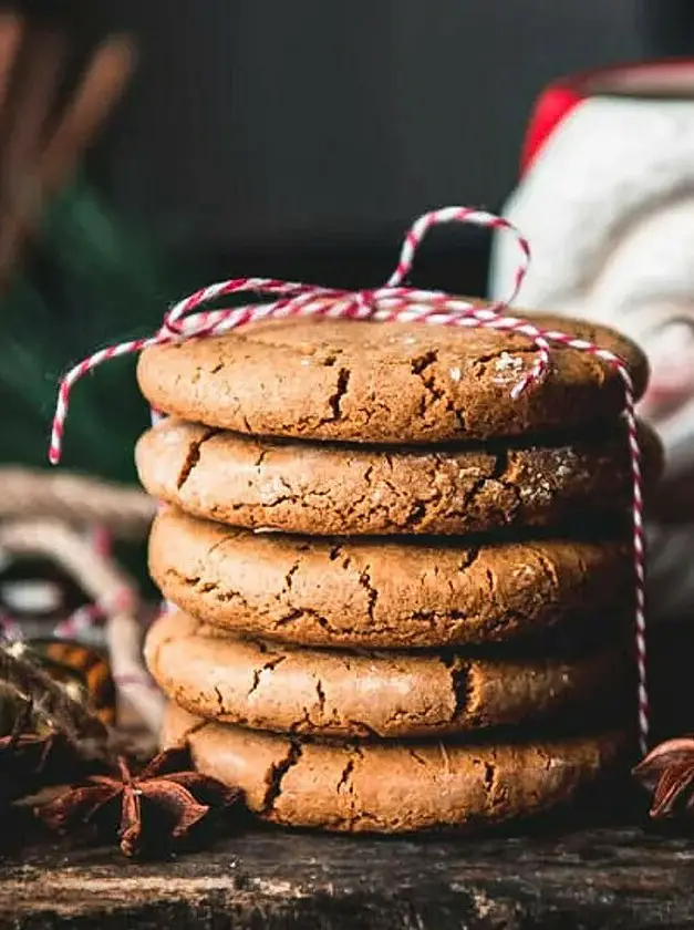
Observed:
[[[636,395],[643,393],[648,363],[629,340],[559,317],[531,319],[620,355]],[[542,383],[514,399],[514,385],[536,360],[531,341],[510,332],[301,318],[153,347],[139,358],[137,379],[164,413],[293,438],[487,440],[567,431],[622,410],[614,368],[560,347]]]

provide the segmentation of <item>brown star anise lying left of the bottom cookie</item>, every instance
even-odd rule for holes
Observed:
[[[166,750],[134,775],[118,758],[113,775],[93,775],[37,812],[52,829],[92,828],[117,837],[126,856],[164,851],[188,838],[213,809],[240,805],[242,793],[191,771],[187,746]]]

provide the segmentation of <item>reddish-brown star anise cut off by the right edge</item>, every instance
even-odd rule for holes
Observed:
[[[655,746],[633,775],[653,794],[651,817],[694,817],[694,736],[666,740]]]

